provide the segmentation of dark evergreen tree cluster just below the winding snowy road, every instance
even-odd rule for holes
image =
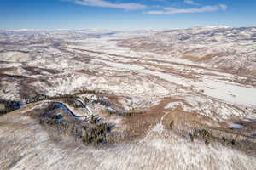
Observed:
[[[52,111],[57,105],[52,104],[40,114],[39,122],[49,129],[57,130],[60,135],[70,135],[83,144],[106,144],[110,141],[111,124],[101,122],[97,115],[92,115],[86,121],[70,122],[61,115],[55,115]]]

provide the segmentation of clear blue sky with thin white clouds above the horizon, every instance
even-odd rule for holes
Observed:
[[[255,0],[1,0],[0,29],[256,26]]]

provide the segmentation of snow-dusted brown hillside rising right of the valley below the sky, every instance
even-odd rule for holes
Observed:
[[[125,40],[119,46],[207,63],[212,68],[256,75],[256,27],[194,27]]]

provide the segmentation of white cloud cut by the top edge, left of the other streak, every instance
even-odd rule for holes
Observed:
[[[123,8],[123,9],[129,9],[129,10],[147,8],[147,6],[140,3],[110,3],[104,0],[66,0],[66,1],[77,3],[84,6],[91,6],[91,7]]]

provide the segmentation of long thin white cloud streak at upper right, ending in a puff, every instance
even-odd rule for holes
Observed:
[[[181,13],[204,13],[204,12],[213,12],[218,10],[226,10],[227,5],[219,4],[214,6],[205,6],[201,8],[164,8],[164,10],[151,10],[148,11],[148,14],[181,14]]]

